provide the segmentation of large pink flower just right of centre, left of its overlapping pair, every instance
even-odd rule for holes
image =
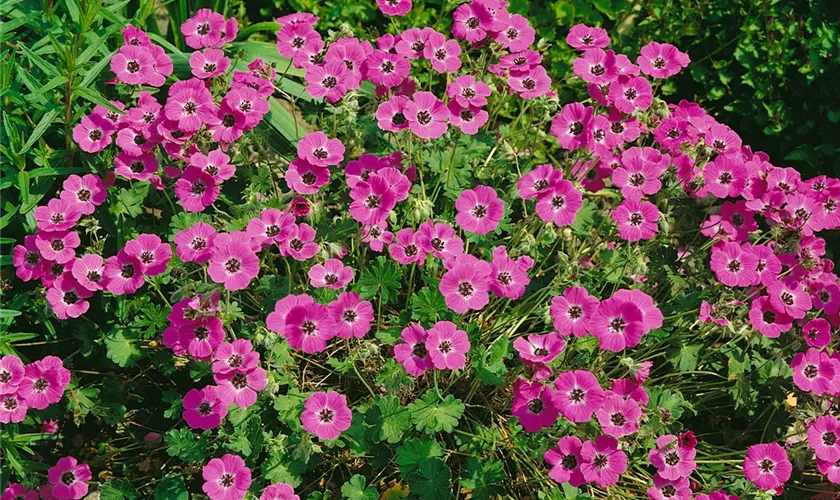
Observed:
[[[472,255],[462,254],[446,261],[446,267],[439,287],[446,306],[458,314],[483,309],[490,301],[492,266]]]

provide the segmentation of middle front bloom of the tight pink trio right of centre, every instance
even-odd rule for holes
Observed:
[[[598,305],[589,321],[601,349],[621,352],[635,347],[644,334],[644,316],[634,301],[612,297]]]

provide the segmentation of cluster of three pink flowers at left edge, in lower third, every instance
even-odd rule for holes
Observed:
[[[28,410],[43,410],[61,401],[70,370],[61,358],[47,356],[27,365],[15,355],[0,357],[0,423],[19,423]]]

